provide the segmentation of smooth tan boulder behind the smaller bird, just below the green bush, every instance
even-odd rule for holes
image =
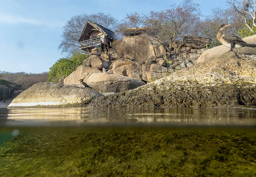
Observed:
[[[67,78],[64,79],[64,84],[71,84],[78,82],[80,79],[83,79],[87,76],[87,73],[91,72],[102,72],[98,68],[91,68],[86,65],[79,66],[74,72],[72,72]],[[75,82],[74,82],[75,81]]]

